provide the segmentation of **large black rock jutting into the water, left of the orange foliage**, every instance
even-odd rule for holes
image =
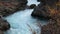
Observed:
[[[36,7],[34,11],[32,12],[31,16],[37,17],[40,19],[50,19],[49,12],[45,7]]]

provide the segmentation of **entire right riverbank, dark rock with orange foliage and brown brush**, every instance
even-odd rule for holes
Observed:
[[[48,19],[42,26],[41,34],[60,34],[60,0],[38,0],[41,2],[32,12],[33,17]]]

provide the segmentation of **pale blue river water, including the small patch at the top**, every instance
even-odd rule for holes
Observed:
[[[38,5],[39,2],[37,2],[37,0],[28,0],[27,5],[31,4]],[[34,9],[25,9],[6,17],[5,19],[10,23],[11,28],[6,31],[5,34],[40,34],[40,24],[44,25],[46,21],[31,17],[33,10]]]

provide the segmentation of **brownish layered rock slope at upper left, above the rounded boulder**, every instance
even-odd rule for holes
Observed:
[[[27,0],[0,0],[0,15],[7,16],[25,9]]]

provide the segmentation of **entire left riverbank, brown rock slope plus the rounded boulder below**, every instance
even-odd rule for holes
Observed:
[[[27,0],[0,0],[0,34],[10,29],[10,24],[3,19],[18,10],[24,10]]]

